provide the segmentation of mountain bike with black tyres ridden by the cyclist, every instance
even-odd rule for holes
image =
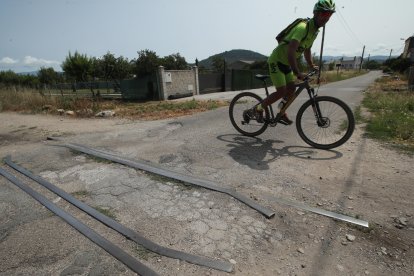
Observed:
[[[296,129],[299,136],[308,145],[318,149],[332,149],[344,144],[352,136],[355,118],[349,106],[340,99],[330,96],[318,96],[310,85],[310,79],[317,71],[306,75],[303,82],[295,84],[296,90],[292,97],[275,115],[271,105],[264,109],[263,118],[254,115],[253,108],[262,102],[262,98],[252,92],[236,95],[230,103],[229,115],[234,128],[246,136],[258,136],[267,127],[275,127],[291,103],[306,90],[309,100],[298,110]],[[256,75],[263,81],[266,96],[269,96],[266,80],[269,75]]]

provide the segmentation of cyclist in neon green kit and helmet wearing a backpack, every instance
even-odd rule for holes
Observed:
[[[316,39],[319,28],[325,26],[331,15],[335,12],[335,3],[333,0],[319,0],[313,9],[313,18],[307,23],[300,22],[296,25],[286,37],[273,50],[268,59],[270,78],[276,87],[276,92],[272,93],[253,108],[253,116],[260,123],[263,123],[263,110],[277,100],[282,99],[279,107],[293,95],[295,91],[294,75],[303,80],[306,76],[299,71],[296,60],[304,54],[305,60],[311,69],[318,70],[318,66],[313,64],[311,56],[311,47]],[[292,124],[287,114],[283,114],[280,123],[285,125]]]

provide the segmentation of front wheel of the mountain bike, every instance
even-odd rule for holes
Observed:
[[[343,101],[321,96],[305,102],[296,116],[300,137],[318,149],[332,149],[344,144],[355,128],[352,110]]]

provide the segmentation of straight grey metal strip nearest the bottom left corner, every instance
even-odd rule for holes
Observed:
[[[20,189],[28,193],[31,197],[36,199],[38,202],[40,202],[43,206],[45,206],[51,212],[58,215],[60,218],[66,221],[69,225],[71,225],[73,228],[75,228],[80,233],[82,233],[85,237],[93,241],[95,244],[99,245],[106,252],[108,252],[109,254],[114,256],[116,259],[118,259],[120,262],[125,264],[132,271],[140,275],[150,275],[150,276],[158,275],[155,271],[145,266],[144,264],[140,263],[134,257],[132,257],[131,255],[123,251],[121,248],[111,243],[104,237],[100,236],[98,233],[93,231],[91,228],[89,228],[88,226],[86,226],[85,224],[83,224],[82,222],[74,218],[73,216],[71,216],[69,213],[67,213],[66,211],[62,210],[61,208],[53,204],[50,200],[48,200],[47,198],[45,198],[38,192],[28,187],[26,184],[21,182],[19,179],[14,177],[12,174],[7,172],[6,170],[0,168],[0,174],[3,175],[5,178],[7,178],[10,182],[14,183]]]

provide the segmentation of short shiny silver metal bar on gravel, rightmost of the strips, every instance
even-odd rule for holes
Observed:
[[[327,211],[327,210],[324,210],[324,209],[320,209],[320,208],[314,208],[314,207],[306,206],[305,204],[302,204],[302,203],[299,203],[299,202],[294,202],[294,201],[283,199],[283,198],[276,198],[276,197],[273,197],[273,196],[265,196],[265,198],[269,201],[276,202],[276,203],[279,203],[279,204],[289,205],[291,207],[295,207],[295,208],[302,209],[302,210],[305,210],[305,211],[313,212],[313,213],[323,215],[323,216],[326,216],[326,217],[334,218],[334,219],[337,219],[337,220],[342,220],[342,221],[345,221],[345,222],[349,222],[349,223],[356,224],[356,225],[363,226],[363,227],[367,227],[367,228],[369,227],[368,222],[364,221],[364,220],[356,219],[356,218],[345,216],[345,215],[342,215],[342,214],[337,214],[337,213]]]

